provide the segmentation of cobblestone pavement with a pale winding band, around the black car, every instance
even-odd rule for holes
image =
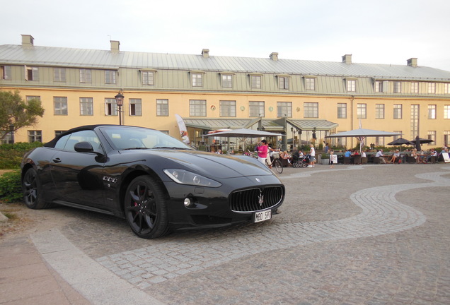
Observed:
[[[282,213],[267,222],[146,240],[124,220],[74,210],[59,232],[161,304],[450,304],[449,170],[288,168]]]

